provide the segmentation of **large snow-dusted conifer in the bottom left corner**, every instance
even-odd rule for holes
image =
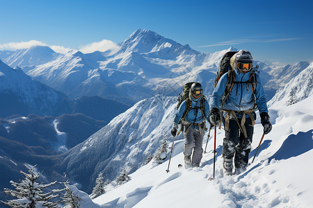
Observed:
[[[51,191],[48,193],[44,193],[42,191],[42,189],[50,187],[51,185],[56,184],[56,182],[51,182],[49,184],[39,184],[35,180],[37,180],[42,173],[35,173],[34,168],[36,165],[30,167],[28,164],[25,164],[25,166],[29,169],[29,173],[19,171],[25,176],[24,180],[19,180],[19,183],[13,182],[12,180],[10,181],[10,184],[15,187],[15,190],[4,189],[4,192],[17,199],[1,202],[8,207],[19,208],[58,207],[57,201],[50,202],[51,199],[58,197],[58,195],[51,194]]]

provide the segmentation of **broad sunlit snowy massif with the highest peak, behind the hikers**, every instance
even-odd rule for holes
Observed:
[[[19,66],[35,80],[67,96],[104,96],[134,105],[156,94],[177,96],[187,80],[200,81],[204,92],[211,94],[220,58],[231,50],[236,49],[200,53],[188,44],[182,45],[153,31],[140,29],[122,42],[118,51],[88,54],[70,51],[37,65]],[[3,51],[3,54],[8,52]],[[13,55],[10,57],[6,58],[8,64],[17,63],[13,62]],[[24,59],[24,56],[14,57]],[[268,69],[266,64],[260,65],[260,71]],[[271,78],[267,71],[262,71],[264,84]],[[272,88],[266,90],[273,92]]]

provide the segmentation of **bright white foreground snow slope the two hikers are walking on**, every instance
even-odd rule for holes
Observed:
[[[310,96],[294,105],[270,108],[273,130],[264,137],[255,162],[249,163],[244,173],[220,174],[223,130],[217,130],[215,180],[208,181],[213,177],[211,152],[204,154],[200,168],[177,168],[183,162],[183,141],[179,140],[175,141],[169,173],[168,161],[156,167],[150,162],[132,173],[130,182],[116,189],[107,187],[107,193],[93,201],[102,207],[311,207],[312,102]],[[262,132],[257,120],[249,162]],[[213,146],[210,137],[207,151]]]

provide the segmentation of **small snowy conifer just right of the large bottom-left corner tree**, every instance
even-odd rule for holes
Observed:
[[[65,188],[59,191],[65,191],[63,196],[61,196],[61,202],[65,205],[64,208],[79,208],[79,201],[81,198],[77,196],[73,191],[70,189],[70,182],[68,180],[63,182]]]

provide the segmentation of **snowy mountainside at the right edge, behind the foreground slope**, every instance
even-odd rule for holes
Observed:
[[[291,71],[296,71],[294,76],[282,76],[282,78],[288,77],[285,80],[289,80],[289,82],[278,90],[271,101],[268,101],[269,106],[287,105],[291,101],[291,97],[296,101],[302,101],[313,94],[313,62],[308,66],[307,62],[300,62],[299,64],[291,67]],[[297,66],[298,70],[294,70]],[[303,67],[305,69],[301,70]]]

